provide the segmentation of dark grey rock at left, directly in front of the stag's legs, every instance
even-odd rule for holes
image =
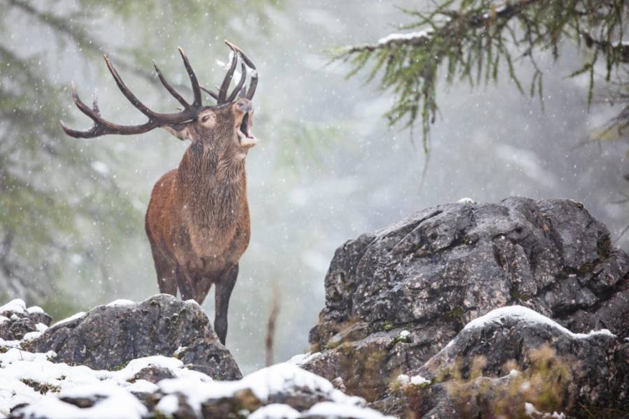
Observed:
[[[242,377],[201,307],[166,294],[134,304],[95,307],[82,317],[53,325],[31,342],[28,351],[55,351],[55,362],[92,369],[119,369],[148,355],[175,356],[218,380]]]

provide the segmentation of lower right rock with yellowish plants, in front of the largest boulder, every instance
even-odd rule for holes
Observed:
[[[629,409],[629,344],[502,316],[465,328],[407,384],[379,402],[414,418],[621,417]],[[409,401],[409,403],[407,403]],[[614,416],[616,412],[619,416]],[[623,413],[624,412],[624,413]],[[547,416],[544,416],[547,417]]]

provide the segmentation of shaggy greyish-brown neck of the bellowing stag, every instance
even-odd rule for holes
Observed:
[[[209,147],[188,147],[178,172],[178,192],[195,226],[231,229],[247,205],[245,159]]]

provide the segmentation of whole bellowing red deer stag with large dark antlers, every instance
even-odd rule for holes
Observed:
[[[227,309],[238,277],[238,260],[247,249],[250,237],[245,157],[248,149],[256,144],[251,133],[251,101],[258,82],[253,62],[236,45],[226,43],[233,56],[218,93],[199,86],[185,53],[179,49],[194,94],[192,103],[168,84],[154,64],[161,83],[181,103],[180,112],[159,113],[147,108],[126,87],[104,56],[122,94],[148,117],[148,121],[141,125],[109,122],[101,117],[96,97],[89,108],[72,86],[76,106],[94,125],[87,131],[75,131],[62,122],[65,133],[75,138],[134,135],[160,127],[180,140],[191,140],[179,167],[167,172],[155,184],[145,227],[160,292],[177,295],[179,288],[182,300],[194,298],[201,304],[212,284],[216,285],[214,326],[222,344],[227,335]],[[241,76],[230,93],[238,61]],[[247,67],[252,70],[248,89],[245,87]],[[216,105],[203,106],[202,89],[216,99]]]

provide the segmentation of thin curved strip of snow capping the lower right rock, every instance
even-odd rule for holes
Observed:
[[[482,328],[484,325],[488,325],[490,323],[499,323],[502,324],[505,318],[516,318],[519,320],[526,321],[528,323],[542,323],[545,325],[551,326],[551,328],[555,328],[557,330],[561,330],[561,332],[569,335],[570,337],[574,337],[576,339],[586,339],[588,337],[593,337],[596,335],[606,335],[609,337],[616,337],[612,332],[609,332],[607,329],[602,330],[593,330],[589,333],[574,333],[570,330],[567,330],[562,325],[557,323],[556,321],[551,320],[547,316],[537,313],[528,307],[523,306],[509,306],[509,307],[500,307],[500,309],[495,309],[489,311],[489,313],[484,316],[480,316],[479,318],[475,318],[470,321],[463,330],[470,330],[475,328]]]

